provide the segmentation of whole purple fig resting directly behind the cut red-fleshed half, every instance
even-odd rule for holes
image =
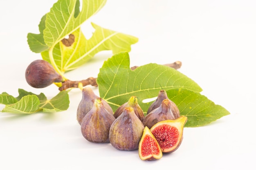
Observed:
[[[150,129],[154,124],[162,120],[172,120],[180,117],[179,115],[173,114],[171,111],[171,100],[164,99],[159,107],[148,113],[143,119],[142,123],[144,126],[148,126]]]

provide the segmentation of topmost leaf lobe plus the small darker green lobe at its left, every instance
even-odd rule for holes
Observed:
[[[28,33],[29,48],[38,53],[55,46],[105,4],[106,0],[83,0],[83,7],[80,11],[79,0],[58,0],[50,12],[42,17],[39,24],[40,33]]]

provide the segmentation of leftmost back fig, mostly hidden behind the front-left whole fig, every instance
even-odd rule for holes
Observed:
[[[97,96],[96,94],[94,94],[93,90],[90,87],[85,87],[82,90],[82,99],[79,102],[79,105],[77,107],[76,110],[76,119],[79,122],[79,124],[81,125],[81,122],[84,118],[84,116],[92,109],[94,100],[99,98],[99,96]],[[103,105],[105,106],[105,108],[113,114],[113,110],[110,107],[110,105],[108,105],[108,103],[101,99],[101,102],[103,102]]]

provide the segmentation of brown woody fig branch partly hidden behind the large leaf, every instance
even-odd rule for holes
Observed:
[[[51,57],[49,57],[49,58],[51,58]],[[53,59],[53,57],[52,57],[52,59]],[[53,61],[53,63],[55,64],[54,61]],[[174,68],[174,69],[177,70],[177,69],[179,69],[181,67],[182,63],[180,61],[175,61],[174,63],[164,64],[164,65],[166,65],[168,67],[171,67],[171,68]],[[139,66],[133,66],[131,68],[131,70],[135,70],[138,67]],[[58,72],[60,72],[60,70],[58,70]],[[79,89],[82,90],[83,87],[85,87],[87,85],[92,85],[92,86],[98,87],[97,78],[89,77],[89,78],[87,78],[85,80],[81,80],[81,81],[71,81],[71,80],[65,79],[65,81],[62,82],[61,87],[59,87],[58,89],[60,91],[63,91],[63,90],[69,89],[69,88],[79,88]]]

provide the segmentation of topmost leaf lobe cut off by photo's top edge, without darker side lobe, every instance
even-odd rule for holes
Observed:
[[[47,13],[43,31],[47,46],[54,46],[66,35],[70,35],[106,4],[106,0],[83,0],[82,10],[77,14],[76,1],[58,0]]]

